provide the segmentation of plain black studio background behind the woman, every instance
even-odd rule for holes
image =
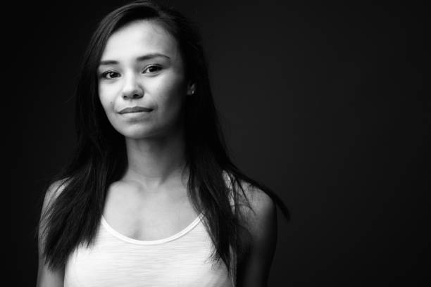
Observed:
[[[96,23],[125,3],[58,2],[23,4],[13,26],[22,61],[11,121],[13,286],[35,286],[32,234],[42,187],[74,146],[83,52]],[[292,213],[290,222],[279,213],[269,286],[424,280],[424,6],[170,3],[201,27],[232,158]]]

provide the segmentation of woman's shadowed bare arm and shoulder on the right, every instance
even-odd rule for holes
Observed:
[[[246,191],[251,208],[246,210],[246,226],[251,233],[249,253],[237,266],[238,287],[266,287],[277,244],[277,209],[263,191]]]

